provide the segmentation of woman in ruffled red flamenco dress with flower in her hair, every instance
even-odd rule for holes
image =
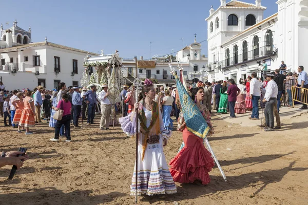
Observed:
[[[204,89],[202,87],[192,89],[191,98],[195,99],[195,103],[209,127],[207,136],[213,134],[214,128],[210,122],[210,113],[206,106],[201,104],[204,98]],[[194,183],[196,180],[200,180],[203,185],[207,185],[210,182],[208,172],[214,167],[214,159],[204,147],[203,138],[187,130],[182,113],[178,119],[178,130],[183,132],[184,147],[181,147],[182,149],[169,163],[174,181]]]

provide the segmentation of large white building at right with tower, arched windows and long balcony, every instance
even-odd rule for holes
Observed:
[[[261,0],[255,4],[220,0],[221,6],[209,11],[208,80],[246,78],[258,72],[260,61],[268,69],[279,68],[281,61],[288,70],[302,65],[308,44],[308,0],[280,0],[278,12],[263,19]],[[300,46],[299,46],[300,43]]]

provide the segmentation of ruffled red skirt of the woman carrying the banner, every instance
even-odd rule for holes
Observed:
[[[169,165],[174,181],[179,183],[193,183],[199,179],[203,185],[210,182],[208,172],[214,167],[214,159],[203,145],[203,139],[183,130],[185,147],[173,158]]]

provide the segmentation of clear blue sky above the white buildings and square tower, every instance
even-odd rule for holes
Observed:
[[[44,3],[43,3],[44,2]],[[228,0],[227,0],[228,2]],[[243,0],[255,3],[255,0]],[[277,12],[275,0],[263,0],[267,7],[264,18]],[[133,58],[164,55],[207,38],[205,18],[209,9],[220,6],[219,0],[198,1],[142,1],[142,0],[53,0],[6,1],[2,4],[0,23],[11,27],[16,18],[18,26],[28,30],[31,25],[32,42],[49,42],[97,53],[101,49],[111,54]],[[172,51],[173,49],[173,51]],[[207,43],[202,43],[207,54]]]

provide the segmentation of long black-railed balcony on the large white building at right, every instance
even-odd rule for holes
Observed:
[[[264,46],[251,51],[243,52],[240,55],[234,55],[230,58],[225,56],[225,60],[214,62],[213,65],[210,65],[210,69],[208,69],[208,71],[214,71],[215,68],[221,70],[228,67],[246,64],[251,61],[259,61],[260,59],[263,59],[265,57],[271,58],[272,56],[277,55],[277,53],[278,49],[273,50],[272,46]]]

